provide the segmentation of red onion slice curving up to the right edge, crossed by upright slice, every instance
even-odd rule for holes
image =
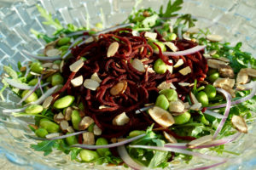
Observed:
[[[235,101],[231,102],[231,105],[238,105],[241,104],[244,101],[247,101],[248,99],[252,99],[254,95],[256,95],[256,82],[253,82],[251,86],[247,87],[248,89],[252,89],[251,94],[248,94],[246,97],[241,99],[236,99]],[[226,107],[227,104],[221,104],[221,105],[213,105],[211,107],[207,107],[207,109],[218,109],[221,107]]]

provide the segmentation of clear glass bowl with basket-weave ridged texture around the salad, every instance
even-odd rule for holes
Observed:
[[[1,1],[0,1],[1,3]],[[154,8],[159,10],[161,4],[167,0],[143,0],[137,8]],[[103,20],[105,27],[121,23],[131,9],[135,7],[136,0],[25,0],[5,5],[0,10],[0,74],[3,65],[26,63],[29,58],[21,54],[22,49],[31,53],[38,53],[44,48],[44,42],[32,36],[30,29],[48,33],[54,31],[50,26],[44,26],[44,21],[38,14],[36,4],[46,8],[62,24],[73,23],[76,26],[94,26]],[[184,0],[180,13],[193,14],[199,21],[196,26],[208,27],[213,33],[224,37],[225,41],[243,42],[243,48],[248,52],[256,52],[256,1],[255,0]],[[103,14],[103,15],[102,15]],[[0,84],[0,88],[3,84]],[[36,141],[28,139],[25,134],[32,134],[26,122],[32,118],[14,118],[4,116],[3,108],[12,108],[19,100],[6,90],[7,101],[0,103],[0,156],[6,157],[17,165],[26,169],[123,169],[125,167],[94,167],[86,163],[70,161],[61,151],[55,150],[49,156],[34,151],[30,144]],[[256,168],[256,126],[252,123],[247,135],[242,135],[236,142],[226,144],[225,149],[240,153],[236,161],[230,161],[214,169],[255,169]],[[216,155],[216,153],[211,153]],[[229,157],[229,154],[223,154]],[[188,169],[210,165],[212,161],[205,161],[196,157],[185,163],[172,164],[171,169]],[[166,169],[170,169],[169,167]]]

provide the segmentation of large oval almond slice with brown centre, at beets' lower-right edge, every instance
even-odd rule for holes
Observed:
[[[148,110],[148,113],[154,122],[157,122],[162,127],[171,127],[175,123],[172,115],[160,107],[154,106]]]

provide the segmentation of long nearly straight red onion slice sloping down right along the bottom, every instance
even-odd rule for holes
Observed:
[[[189,156],[197,156],[203,159],[211,160],[211,161],[227,161],[227,158],[219,157],[219,156],[209,156],[206,154],[201,154],[195,151],[177,149],[177,148],[169,148],[169,147],[159,147],[159,146],[148,146],[148,145],[129,145],[131,148],[142,148],[147,150],[162,150],[162,151],[172,151],[180,154],[185,154]]]

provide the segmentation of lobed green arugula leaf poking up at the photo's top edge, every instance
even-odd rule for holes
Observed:
[[[172,1],[170,0],[167,4],[165,13],[163,13],[163,6],[160,7],[160,17],[170,18],[177,16],[177,14],[173,13],[177,12],[182,8],[181,4],[183,4],[183,0],[176,0],[174,3],[172,3]]]

